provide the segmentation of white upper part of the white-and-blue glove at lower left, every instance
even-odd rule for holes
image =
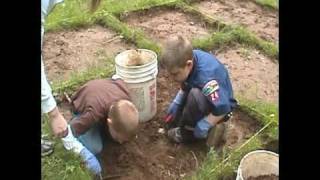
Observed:
[[[70,125],[68,125],[68,135],[64,138],[61,138],[63,142],[63,146],[67,150],[73,150],[73,152],[80,154],[81,150],[85,147],[81,144],[80,141],[78,141],[77,138],[75,138],[72,134]]]

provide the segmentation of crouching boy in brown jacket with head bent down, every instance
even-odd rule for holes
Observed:
[[[129,141],[138,128],[138,110],[121,79],[87,82],[71,97],[71,106],[75,117],[69,122],[68,135],[62,138],[64,146],[80,154],[87,167],[100,175],[94,155],[102,151],[103,132],[120,144]]]

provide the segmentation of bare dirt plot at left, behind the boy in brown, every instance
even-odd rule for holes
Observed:
[[[49,81],[66,80],[72,72],[99,66],[126,49],[134,48],[101,26],[48,32],[44,36],[43,61]]]

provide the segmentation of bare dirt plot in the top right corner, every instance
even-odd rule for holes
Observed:
[[[195,5],[203,13],[229,24],[239,24],[263,39],[279,42],[278,11],[248,0],[202,1]]]

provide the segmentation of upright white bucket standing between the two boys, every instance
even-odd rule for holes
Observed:
[[[115,57],[116,75],[127,83],[132,101],[139,111],[140,122],[146,122],[157,112],[157,54],[151,50],[137,49],[150,60],[142,65],[128,66],[129,54],[132,51],[136,50],[126,50]]]

